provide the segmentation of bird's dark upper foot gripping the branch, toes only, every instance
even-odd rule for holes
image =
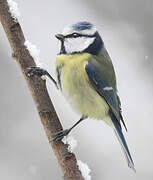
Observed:
[[[26,73],[29,77],[37,75],[37,76],[43,76],[46,75],[46,70],[40,68],[40,67],[29,67],[26,69]]]

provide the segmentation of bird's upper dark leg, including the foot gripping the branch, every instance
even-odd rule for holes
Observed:
[[[40,76],[40,77],[43,76],[43,75],[48,76],[49,79],[51,79],[52,82],[55,84],[57,89],[59,89],[58,85],[57,85],[57,82],[52,78],[52,76],[45,69],[42,69],[40,67],[29,67],[29,68],[26,69],[26,73],[27,73],[27,75],[29,77],[34,76],[34,75]]]

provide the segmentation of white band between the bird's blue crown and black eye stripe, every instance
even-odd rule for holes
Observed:
[[[90,29],[84,29],[84,30],[75,30],[72,26],[68,26],[64,28],[62,34],[68,35],[72,33],[79,33],[83,35],[93,35],[97,31],[95,26],[92,26]]]

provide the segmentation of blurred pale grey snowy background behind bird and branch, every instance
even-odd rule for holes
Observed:
[[[115,66],[128,133],[124,132],[137,173],[127,167],[120,145],[103,122],[86,120],[71,135],[78,159],[94,180],[153,179],[153,1],[152,0],[16,0],[27,40],[41,50],[40,59],[55,77],[58,43],[54,35],[69,24],[95,24]],[[59,180],[62,173],[49,146],[31,95],[0,25],[0,179]],[[47,81],[65,128],[79,116]],[[62,103],[61,103],[62,102]]]

